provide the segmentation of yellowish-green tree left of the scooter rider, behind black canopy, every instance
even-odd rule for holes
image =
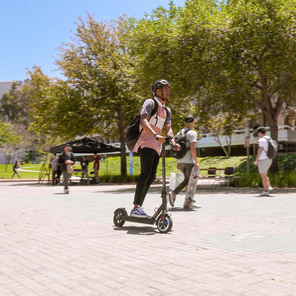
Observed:
[[[67,81],[53,84],[41,68],[29,71],[33,126],[44,133],[58,130],[68,139],[88,133],[119,136],[126,175],[125,131],[141,102],[124,38],[129,21],[123,16],[97,22],[90,14],[78,20],[72,43],[59,47],[56,60]]]

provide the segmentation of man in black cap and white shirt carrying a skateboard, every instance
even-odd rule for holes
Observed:
[[[179,133],[186,132],[186,148],[188,151],[181,159],[177,159],[177,169],[181,170],[184,174],[184,181],[181,182],[173,191],[168,193],[169,203],[172,207],[175,205],[176,195],[189,183],[190,176],[193,175],[194,170],[197,171],[200,165],[198,164],[195,150],[195,143],[197,141],[197,132],[193,130],[194,128],[194,116],[187,115],[184,118],[185,128],[181,129]],[[194,168],[194,170],[193,170]],[[195,190],[194,190],[195,192]],[[200,208],[200,205],[197,205],[192,199],[191,202],[185,201],[184,207],[186,208]]]

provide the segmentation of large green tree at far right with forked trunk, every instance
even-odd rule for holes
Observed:
[[[207,60],[211,91],[235,93],[243,108],[259,108],[274,140],[280,111],[295,96],[295,3],[230,0],[221,4],[217,42]]]

